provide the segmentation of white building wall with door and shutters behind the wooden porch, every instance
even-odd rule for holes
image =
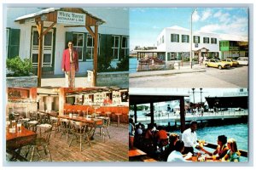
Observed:
[[[38,31],[33,20],[20,23],[20,18],[42,13],[44,8],[7,8],[6,13],[6,58],[17,55],[32,59],[34,73],[38,66]],[[54,9],[53,9],[54,10]],[[111,66],[129,54],[129,11],[127,8],[83,8],[84,11],[105,21],[99,26],[98,54],[111,61]],[[52,23],[44,22],[44,30]],[[56,24],[44,35],[43,75],[59,75],[62,52],[72,40],[79,51],[79,73],[93,69],[93,38],[82,26],[69,27]],[[99,59],[98,59],[98,62]]]

